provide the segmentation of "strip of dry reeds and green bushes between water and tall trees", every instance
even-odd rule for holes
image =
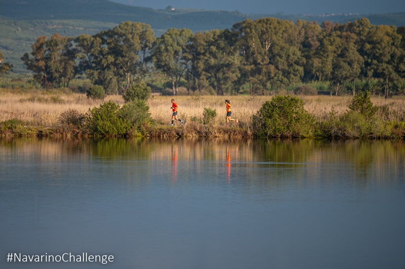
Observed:
[[[20,137],[405,138],[405,98],[353,96],[177,96],[185,124],[170,126],[172,97],[126,102],[63,91],[0,89],[0,133]],[[232,118],[226,127],[224,100]]]

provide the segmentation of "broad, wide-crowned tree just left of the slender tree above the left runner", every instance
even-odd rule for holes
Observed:
[[[147,74],[154,40],[150,25],[129,21],[93,36],[80,35],[75,39],[79,70],[93,84],[124,94],[136,79]]]

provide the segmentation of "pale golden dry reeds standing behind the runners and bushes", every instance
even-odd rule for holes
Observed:
[[[252,116],[262,104],[271,100],[271,96],[151,96],[148,100],[150,113],[158,123],[170,124],[172,111],[170,100],[174,98],[179,105],[178,117],[186,122],[198,122],[203,119],[204,108],[215,109],[216,125],[225,125],[225,99],[232,105],[232,118],[242,124],[251,121]],[[348,110],[352,96],[299,96],[304,100],[305,109],[317,120],[325,119],[332,109],[337,114]],[[89,108],[99,106],[102,102],[114,101],[124,104],[122,96],[107,96],[103,101],[88,99],[85,94],[45,92],[33,89],[29,93],[13,92],[11,89],[0,88],[0,121],[9,119],[22,120],[32,126],[56,126],[59,115],[75,109],[86,113]],[[374,105],[386,105],[390,109],[403,111],[405,97],[384,99],[371,98]],[[234,123],[234,122],[232,122]],[[178,124],[178,123],[176,123]]]

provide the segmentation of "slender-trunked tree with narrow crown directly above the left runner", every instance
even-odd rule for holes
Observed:
[[[165,73],[172,82],[173,95],[177,95],[180,79],[189,65],[186,45],[192,32],[189,29],[170,28],[156,39],[152,48],[155,67]]]

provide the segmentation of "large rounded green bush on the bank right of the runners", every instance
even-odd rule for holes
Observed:
[[[291,96],[275,96],[253,116],[258,137],[312,137],[315,120],[304,102]]]

